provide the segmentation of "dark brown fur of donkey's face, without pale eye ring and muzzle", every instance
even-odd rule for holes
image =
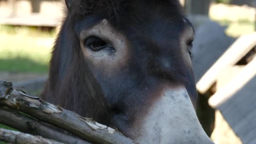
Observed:
[[[186,18],[181,12],[179,0],[66,0],[66,3],[69,12],[53,48],[49,80],[41,95],[43,99],[113,126],[117,125],[113,117],[119,113],[125,115],[127,125],[132,123],[130,120],[136,119],[133,113],[142,107],[147,96],[129,97],[130,99],[122,96],[140,93],[136,88],[147,77],[154,79],[152,85],[161,84],[155,80],[168,80],[173,85],[184,85],[190,99],[195,102],[192,66],[182,58],[184,51],[187,51],[187,41],[192,38],[186,34],[179,38],[181,32],[186,27],[191,27],[191,24],[188,22],[188,26],[184,25],[182,19]],[[157,7],[158,5],[162,7]],[[91,19],[87,19],[88,17]],[[112,82],[117,86],[109,88],[111,92],[108,93],[103,92],[108,84],[102,86],[104,82],[97,80],[88,68],[78,35],[80,29],[90,27],[100,18],[108,19],[116,29],[123,32],[134,48],[132,61],[125,67],[128,69],[127,73],[120,73],[109,79],[109,85]],[[155,19],[159,21],[152,21]],[[177,46],[181,41],[186,41],[185,46]],[[172,61],[172,67],[163,66],[162,56]],[[134,81],[129,81],[129,74],[133,74]]]

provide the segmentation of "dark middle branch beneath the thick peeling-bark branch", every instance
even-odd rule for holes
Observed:
[[[57,131],[49,125],[6,108],[0,108],[0,123],[24,133],[43,136],[66,144],[89,144],[87,141]]]

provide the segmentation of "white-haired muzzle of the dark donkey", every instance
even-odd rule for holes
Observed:
[[[185,88],[166,89],[144,117],[141,144],[211,144]]]

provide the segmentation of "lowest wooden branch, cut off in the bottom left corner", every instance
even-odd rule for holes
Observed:
[[[13,144],[63,144],[57,141],[42,138],[41,136],[32,136],[27,133],[11,131],[4,128],[0,128],[0,141]]]

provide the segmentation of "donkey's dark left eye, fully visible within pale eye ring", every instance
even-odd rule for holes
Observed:
[[[85,46],[93,51],[99,51],[103,48],[111,48],[104,40],[99,37],[89,37],[85,40]]]

